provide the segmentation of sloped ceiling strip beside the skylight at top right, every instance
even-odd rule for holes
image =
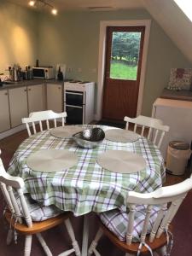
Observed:
[[[192,22],[177,4],[173,0],[143,0],[143,5],[192,62]]]

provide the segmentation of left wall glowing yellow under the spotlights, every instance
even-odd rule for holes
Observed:
[[[9,65],[34,65],[38,49],[38,15],[0,0],[0,73]]]

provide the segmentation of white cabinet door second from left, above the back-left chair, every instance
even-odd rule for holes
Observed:
[[[9,89],[11,128],[20,125],[21,119],[28,116],[26,86]]]

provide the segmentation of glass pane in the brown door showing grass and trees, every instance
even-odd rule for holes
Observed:
[[[113,32],[110,79],[137,80],[141,32]]]

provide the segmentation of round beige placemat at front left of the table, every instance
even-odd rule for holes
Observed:
[[[59,172],[78,164],[78,156],[68,150],[47,149],[32,153],[26,165],[36,172]]]

